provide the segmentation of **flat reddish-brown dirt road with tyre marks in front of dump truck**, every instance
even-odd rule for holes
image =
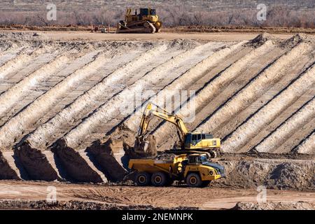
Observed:
[[[143,209],[146,207],[165,209],[179,207],[182,207],[182,209],[185,207],[194,209],[232,209],[237,202],[255,203],[257,198],[262,198],[258,195],[260,192],[254,189],[230,190],[211,187],[186,188],[184,186],[140,188],[137,186],[0,181],[0,209],[6,208],[6,203],[3,200],[33,201],[34,203],[46,200],[48,193],[52,192],[52,186],[55,187],[53,190],[56,190],[58,202],[73,201],[73,204],[74,202],[78,204],[79,202],[104,203],[111,204],[113,208],[133,206]],[[267,190],[266,193],[267,202],[315,203],[314,192]]]

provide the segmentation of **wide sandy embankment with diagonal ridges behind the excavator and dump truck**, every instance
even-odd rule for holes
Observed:
[[[122,181],[141,113],[121,106],[195,90],[189,130],[225,153],[213,187],[314,191],[314,36],[33,33],[0,34],[0,179]],[[160,151],[177,140],[160,120],[150,130]]]

